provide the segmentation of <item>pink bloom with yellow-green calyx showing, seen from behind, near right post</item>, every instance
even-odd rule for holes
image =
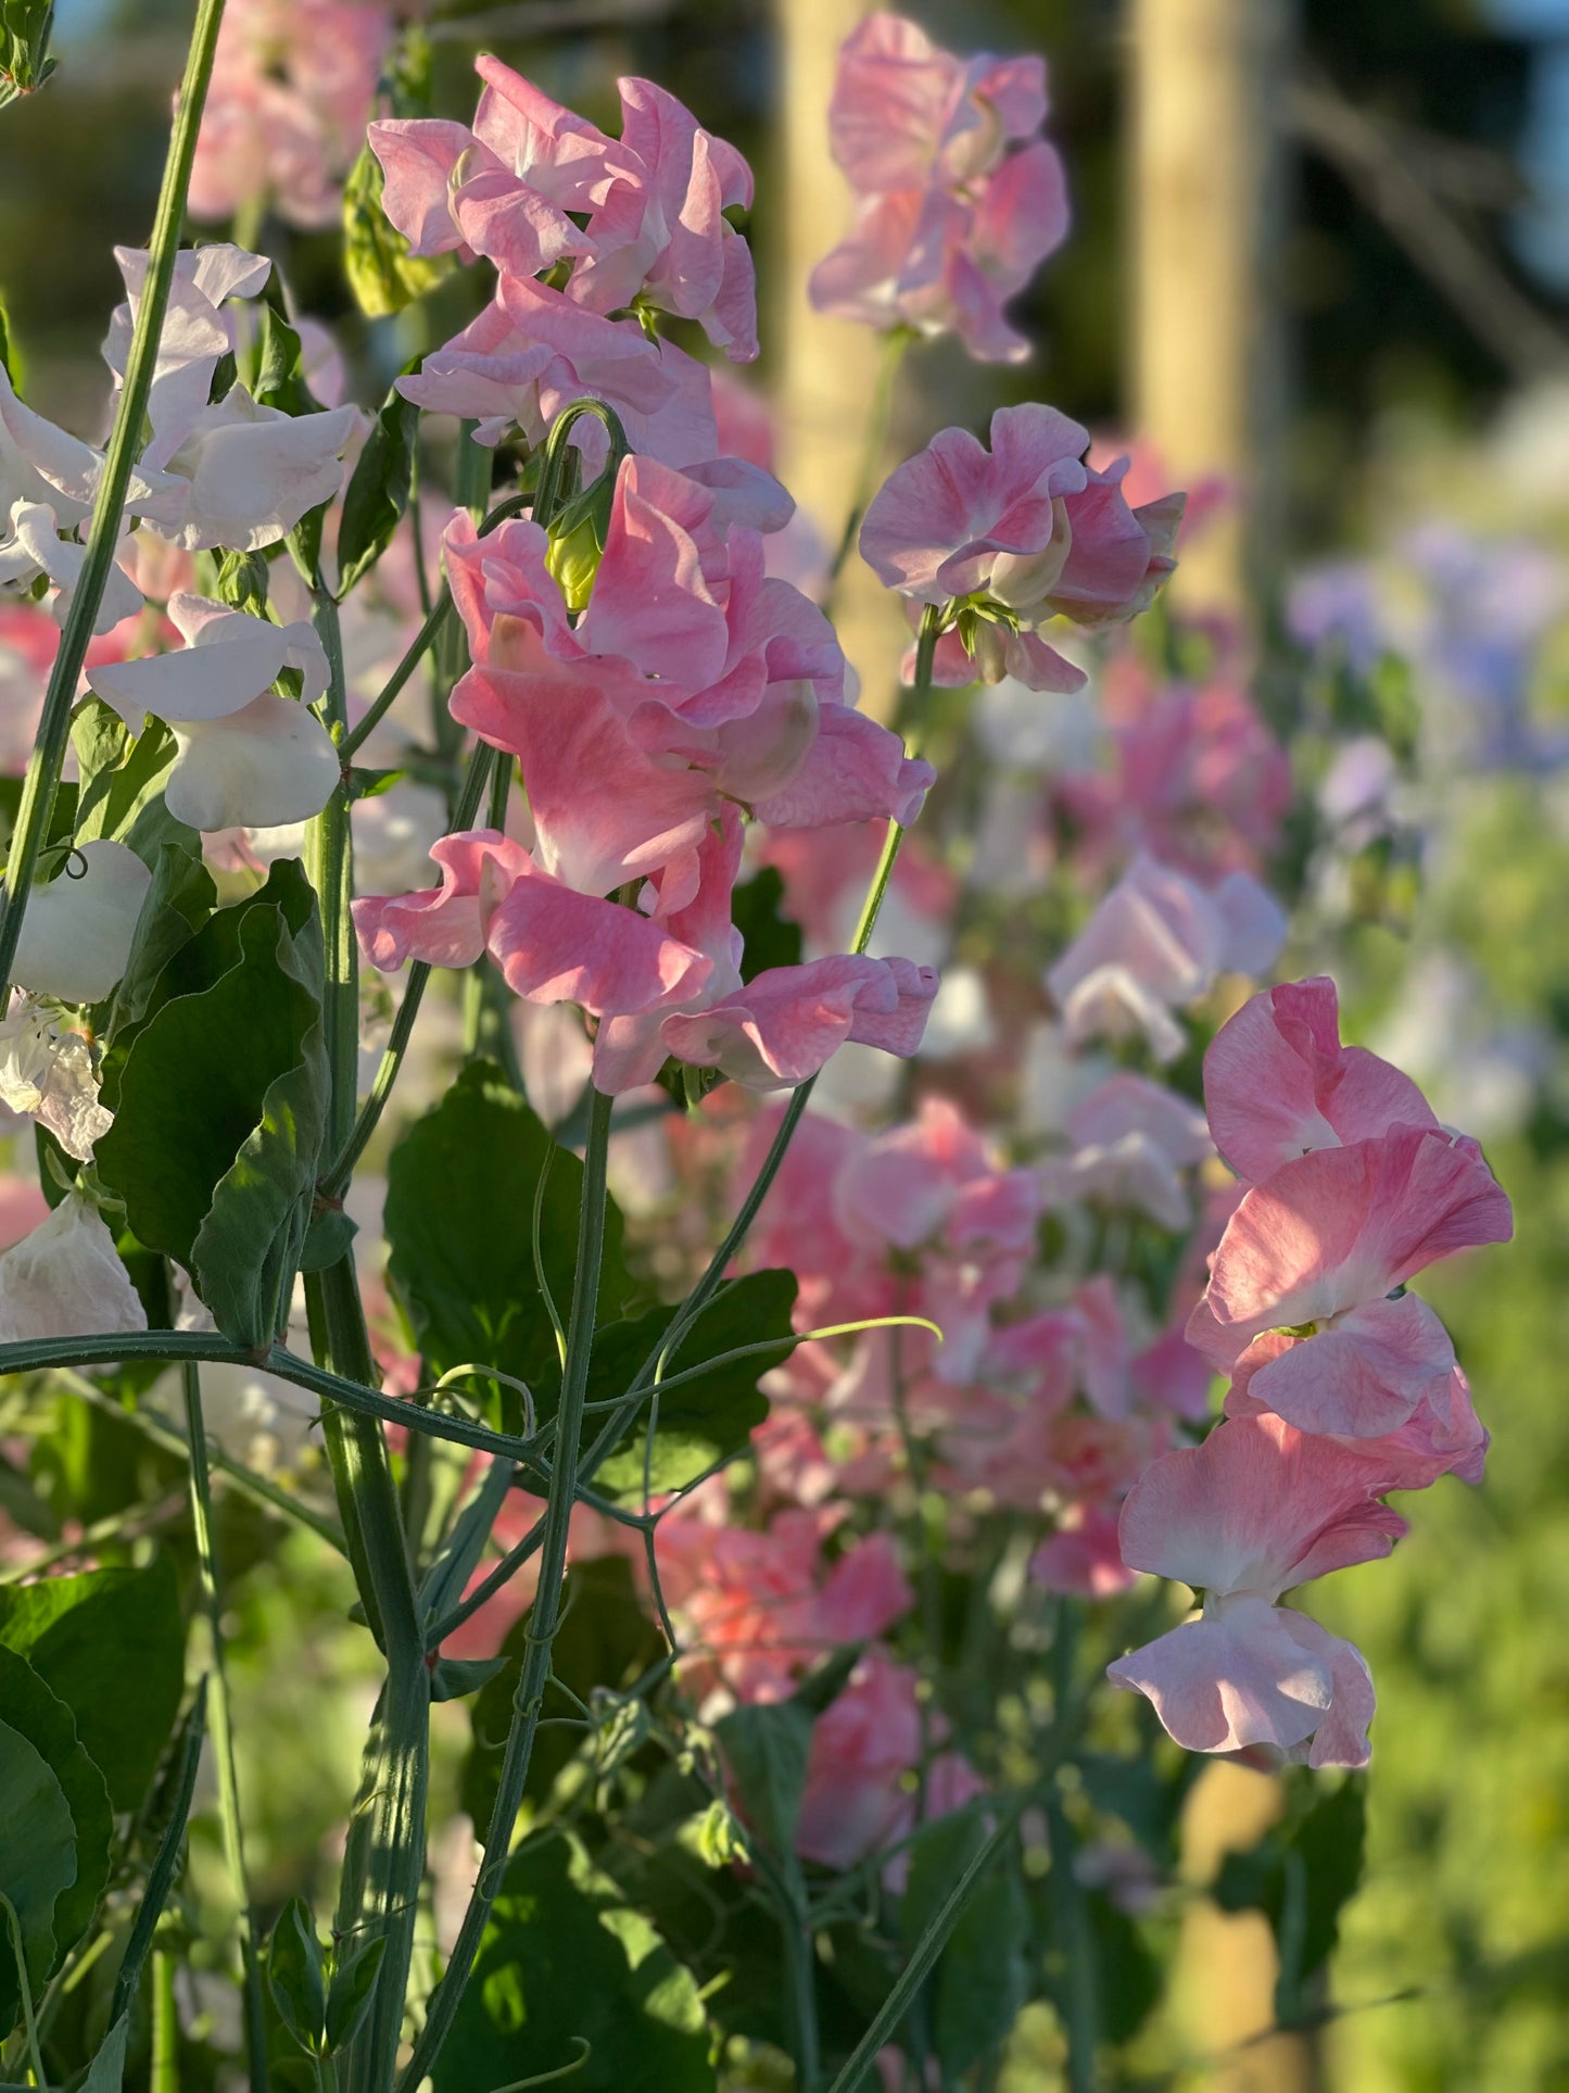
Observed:
[[[943,609],[937,682],[1015,676],[1077,691],[1084,672],[1040,636],[1050,617],[1121,624],[1146,609],[1176,561],[1182,496],[1130,509],[1128,460],[1084,463],[1090,433],[1048,406],[992,417],[992,448],[943,429],[883,483],[860,532],[862,559],[914,603]]]

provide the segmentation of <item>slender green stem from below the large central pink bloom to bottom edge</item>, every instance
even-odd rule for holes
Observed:
[[[594,1312],[598,1306],[598,1273],[605,1250],[605,1157],[611,1141],[611,1099],[594,1090],[588,1118],[588,1147],[584,1153],[584,1203],[577,1218],[577,1268],[571,1287],[571,1314],[567,1319],[567,1367],[561,1375],[561,1404],[556,1409],[556,1459],[550,1467],[550,1492],[544,1511],[544,1538],[540,1553],[540,1584],[533,1595],[529,1616],[527,1649],[523,1672],[513,1700],[513,1725],[502,1756],[496,1804],[485,1829],[485,1865],[479,1871],[469,1909],[462,1917],[458,1938],[452,1949],[446,1976],[431,1995],[429,2013],[404,2076],[397,2080],[400,2093],[416,2093],[429,2074],[441,2043],[452,2028],[458,2003],[469,1984],[479,1942],[490,1919],[496,1892],[506,1871],[506,1854],[513,1844],[513,1825],[523,1802],[523,1787],[533,1758],[533,1737],[540,1729],[540,1710],[550,1681],[550,1649],[561,1626],[561,1589],[567,1570],[567,1532],[571,1507],[577,1496],[577,1448],[584,1425],[584,1398],[588,1392],[588,1365],[594,1346]]]

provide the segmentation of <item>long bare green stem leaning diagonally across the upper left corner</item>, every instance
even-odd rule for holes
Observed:
[[[88,657],[98,605],[109,584],[109,569],[115,563],[119,519],[126,507],[132,465],[142,442],[142,417],[146,414],[153,373],[157,370],[163,314],[169,303],[169,285],[174,283],[174,264],[180,251],[180,228],[186,213],[186,190],[190,188],[190,165],[197,155],[197,130],[201,128],[201,111],[207,100],[207,82],[213,71],[213,50],[218,48],[222,21],[224,0],[201,0],[197,25],[190,36],[186,73],[180,84],[169,155],[163,163],[163,186],[159,188],[157,216],[153,220],[153,247],[142,301],[136,312],[130,358],[126,362],[126,383],[115,402],[115,423],[109,433],[98,494],[92,502],[88,557],[82,563],[82,576],[71,597],[65,630],[61,632],[61,649],[50,670],[44,712],[21,787],[17,827],[10,837],[4,913],[0,913],[0,1011],[10,1000],[10,967],[17,959],[17,938],[27,913],[33,875],[38,873],[38,854],[48,833],[54,789],[61,783],[75,689],[82,678],[82,663]]]

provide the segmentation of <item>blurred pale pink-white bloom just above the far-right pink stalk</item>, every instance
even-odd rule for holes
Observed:
[[[1205,890],[1169,864],[1136,858],[1048,969],[1071,1044],[1138,1038],[1174,1061],[1186,1034],[1172,1011],[1207,996],[1222,973],[1264,973],[1287,919],[1249,873]]]

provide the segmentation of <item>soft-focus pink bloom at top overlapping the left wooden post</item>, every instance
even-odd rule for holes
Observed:
[[[1046,121],[1042,59],[971,61],[897,15],[845,38],[828,107],[856,224],[812,272],[818,312],[870,327],[958,333],[973,356],[1029,345],[1004,303],[1067,234],[1067,182]]]

